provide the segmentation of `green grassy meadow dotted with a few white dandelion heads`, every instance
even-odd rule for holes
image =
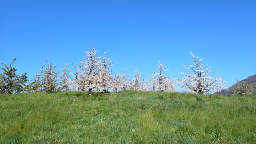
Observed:
[[[256,96],[0,95],[0,143],[256,143]]]

